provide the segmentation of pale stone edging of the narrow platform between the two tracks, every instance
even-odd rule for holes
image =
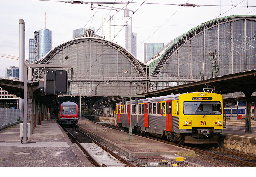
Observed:
[[[77,125],[79,128],[83,129],[85,132],[91,134],[94,138],[98,138],[99,140],[101,140],[102,142],[104,142],[105,144],[117,149],[118,151],[124,153],[126,156],[128,157],[138,157],[138,156],[157,156],[157,155],[179,155],[179,156],[195,156],[195,151],[186,149],[186,151],[167,151],[167,152],[132,152],[128,149],[126,149],[125,147],[120,147],[119,145],[117,145],[116,143],[114,143],[113,141],[110,141],[98,134],[94,134],[93,132],[91,132],[90,130]],[[155,141],[155,140],[152,140]],[[158,141],[157,141],[158,142]],[[179,147],[181,148],[181,147]],[[181,148],[181,149],[185,149],[185,148]]]

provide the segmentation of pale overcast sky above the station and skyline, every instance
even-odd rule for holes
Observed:
[[[116,11],[105,9],[91,10],[91,2],[92,1],[90,1],[88,4],[71,4],[65,2],[49,2],[35,0],[0,0],[0,53],[18,57],[19,19],[23,19],[26,24],[25,58],[28,59],[29,38],[34,38],[34,31],[38,31],[44,28],[44,12],[46,12],[46,28],[52,31],[52,48],[55,48],[57,45],[61,44],[62,41],[71,40],[72,31],[78,28],[90,26],[94,27],[96,31],[98,30],[96,34],[101,36],[102,30],[100,30],[100,27],[102,26],[102,15],[109,14],[113,16],[114,14],[116,14]],[[97,2],[104,2],[104,0]],[[105,0],[105,2],[121,2],[121,0]],[[196,27],[200,23],[212,20],[217,17],[219,18],[223,16],[241,14],[256,15],[255,0],[145,1],[145,3],[164,3],[165,5],[141,5],[142,2],[142,0],[133,0],[131,3],[127,5],[127,8],[133,10],[134,12],[137,10],[132,16],[132,21],[133,32],[138,33],[137,58],[141,61],[143,61],[143,43],[167,43],[172,38],[175,38],[189,31],[190,29]],[[175,5],[166,5],[184,4],[186,2],[198,5],[216,6],[180,7]],[[248,2],[248,6],[254,7],[232,7],[232,2],[234,5],[239,4],[241,6],[247,6]],[[115,4],[114,6],[117,8],[123,8],[125,4]],[[93,7],[99,6],[93,5]],[[93,15],[94,17],[91,18]],[[123,15],[124,11],[120,11],[115,15],[115,18],[121,19]],[[132,12],[130,12],[130,16],[131,15]],[[158,29],[161,25],[163,26],[160,29]],[[5,77],[5,68],[10,66],[19,66],[18,60],[8,59],[4,57],[0,57],[0,62],[0,77]]]

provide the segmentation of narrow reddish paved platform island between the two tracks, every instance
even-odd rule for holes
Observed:
[[[79,120],[77,124],[86,132],[95,134],[94,136],[104,143],[118,149],[127,156],[155,156],[155,155],[195,155],[195,152],[189,149],[177,147],[174,145],[165,144],[159,141],[150,140],[137,135],[132,135],[132,140],[129,140],[129,133],[121,131],[113,131],[108,129],[103,131],[101,125],[86,120]]]

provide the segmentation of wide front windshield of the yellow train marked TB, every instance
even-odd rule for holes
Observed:
[[[220,115],[220,102],[183,102],[184,115]]]

